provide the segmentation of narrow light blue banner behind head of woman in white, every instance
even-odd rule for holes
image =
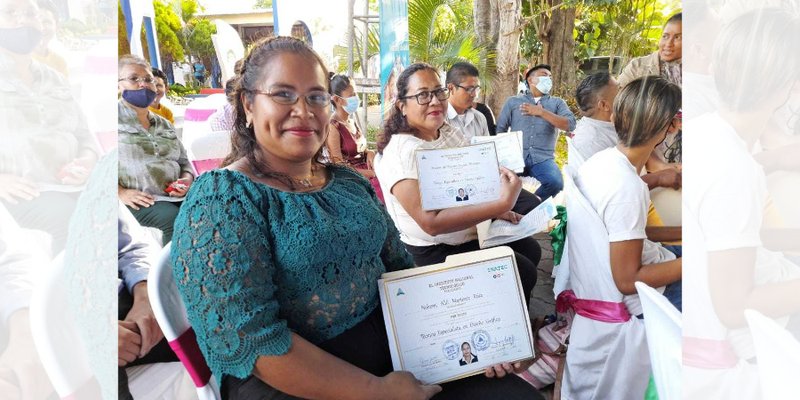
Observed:
[[[397,97],[395,81],[408,66],[408,0],[380,0],[381,104],[383,115]]]

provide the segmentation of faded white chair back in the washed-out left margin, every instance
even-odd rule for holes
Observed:
[[[64,286],[63,253],[47,266],[31,295],[33,342],[47,377],[62,399],[100,399],[86,348],[75,327]]]

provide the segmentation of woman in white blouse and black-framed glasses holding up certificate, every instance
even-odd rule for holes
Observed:
[[[442,210],[422,207],[419,172],[415,152],[421,149],[462,147],[469,143],[463,135],[445,124],[447,88],[438,71],[428,64],[412,64],[397,79],[398,100],[384,123],[378,139],[381,154],[375,171],[381,182],[386,208],[400,230],[400,239],[417,265],[441,263],[451,254],[478,250],[476,225],[501,218],[512,223],[521,216],[512,208],[517,203],[521,183],[514,172],[500,168],[498,200]],[[456,201],[468,197],[463,189]],[[516,252],[517,267],[526,298],[536,284],[536,265],[541,257],[539,244],[531,237],[508,244]]]

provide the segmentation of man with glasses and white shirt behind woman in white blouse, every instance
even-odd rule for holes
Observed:
[[[467,62],[453,64],[447,71],[445,84],[450,91],[447,99],[447,123],[461,131],[467,141],[475,136],[489,135],[486,117],[472,108],[481,90],[478,69]]]

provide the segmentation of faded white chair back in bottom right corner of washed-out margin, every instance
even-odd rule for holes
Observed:
[[[797,398],[800,343],[789,331],[755,310],[745,310],[758,357],[761,393],[767,400]]]

